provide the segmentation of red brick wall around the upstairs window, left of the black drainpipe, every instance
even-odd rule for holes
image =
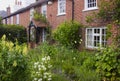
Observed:
[[[54,1],[53,4],[47,6],[47,18],[52,26],[52,29],[56,29],[59,24],[66,20],[72,19],[72,2],[66,0],[66,14],[58,15],[58,1]]]

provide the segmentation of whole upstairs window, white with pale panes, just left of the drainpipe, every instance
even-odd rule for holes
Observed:
[[[66,0],[58,0],[58,15],[66,13]]]

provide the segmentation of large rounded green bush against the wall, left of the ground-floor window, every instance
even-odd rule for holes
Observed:
[[[53,38],[64,46],[77,48],[81,43],[81,27],[83,25],[75,21],[64,22],[54,31]]]

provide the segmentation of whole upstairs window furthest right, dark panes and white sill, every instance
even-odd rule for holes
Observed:
[[[97,0],[84,0],[84,10],[94,10],[97,8]]]

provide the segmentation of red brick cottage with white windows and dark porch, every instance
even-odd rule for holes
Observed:
[[[56,29],[64,21],[75,20],[86,25],[86,28],[81,31],[82,48],[94,49],[98,48],[98,43],[100,46],[107,44],[106,25],[99,23],[88,24],[86,22],[88,15],[98,11],[98,3],[99,0],[37,0],[35,3],[14,13],[10,13],[10,8],[8,8],[8,16],[3,18],[3,23],[22,25],[29,30],[29,23],[33,20],[35,10],[46,16],[52,30]],[[39,31],[37,33],[38,42],[44,42],[46,35],[45,25],[37,25],[35,22],[34,24]]]

